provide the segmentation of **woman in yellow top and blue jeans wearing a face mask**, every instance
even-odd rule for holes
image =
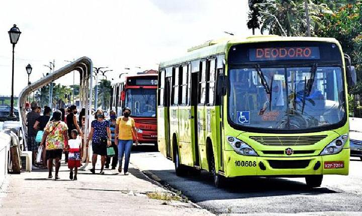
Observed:
[[[128,175],[128,164],[129,158],[131,156],[131,148],[133,145],[132,133],[136,138],[136,146],[138,144],[138,137],[134,126],[134,120],[129,117],[131,115],[131,109],[126,107],[122,110],[122,112],[123,116],[117,119],[115,129],[116,138],[118,138],[118,141],[116,140],[116,143],[118,143],[118,172],[122,172],[122,160],[124,155],[124,174]]]

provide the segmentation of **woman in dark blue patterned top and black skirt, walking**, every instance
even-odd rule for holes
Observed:
[[[96,162],[98,155],[101,155],[101,172],[104,174],[104,164],[107,157],[107,147],[111,146],[111,130],[110,122],[105,120],[105,115],[102,110],[97,110],[95,119],[91,125],[91,131],[88,135],[88,142],[86,147],[89,145],[89,141],[92,139],[92,165],[93,168],[90,170],[93,174],[96,172]]]

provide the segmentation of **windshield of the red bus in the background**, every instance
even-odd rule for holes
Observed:
[[[128,88],[125,106],[130,107],[132,117],[156,117],[156,89]]]

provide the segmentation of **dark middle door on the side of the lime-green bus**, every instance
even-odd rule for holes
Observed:
[[[191,73],[191,86],[189,87],[190,92],[190,104],[191,104],[191,116],[190,116],[190,125],[191,125],[191,139],[194,144],[194,155],[195,155],[195,166],[200,166],[200,153],[199,153],[199,144],[198,144],[198,84],[199,84],[199,72]]]

